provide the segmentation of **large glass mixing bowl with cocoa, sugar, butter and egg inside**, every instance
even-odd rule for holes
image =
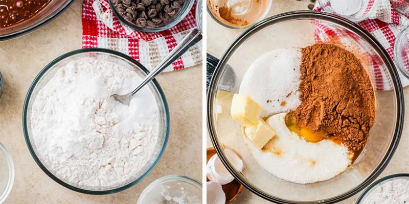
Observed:
[[[402,85],[387,50],[353,22],[313,11],[272,16],[232,42],[215,70],[210,138],[224,166],[258,196],[336,203],[391,161],[403,127]]]

